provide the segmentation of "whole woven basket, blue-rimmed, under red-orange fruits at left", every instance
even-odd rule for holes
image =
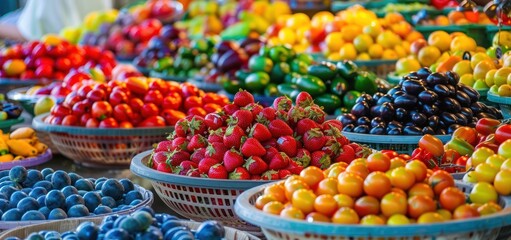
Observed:
[[[174,127],[85,128],[44,123],[48,114],[34,118],[35,130],[47,132],[57,150],[77,164],[89,167],[128,167],[136,154],[164,140]]]

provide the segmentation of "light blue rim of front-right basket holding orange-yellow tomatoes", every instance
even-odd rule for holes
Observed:
[[[432,224],[409,224],[401,226],[364,226],[349,224],[331,223],[309,223],[306,221],[285,219],[276,215],[265,213],[250,204],[249,199],[254,194],[264,190],[273,183],[254,187],[241,193],[234,204],[234,211],[241,219],[278,232],[292,233],[318,233],[329,236],[353,236],[353,237],[404,237],[428,235],[438,236],[439,234],[454,234],[498,228],[511,224],[511,209],[505,208],[499,213],[472,218],[467,220],[452,220],[443,223]]]

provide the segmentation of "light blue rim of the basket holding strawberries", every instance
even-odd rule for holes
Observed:
[[[229,180],[198,178],[159,172],[145,166],[143,163],[143,161],[145,161],[151,155],[151,152],[152,150],[148,150],[141,152],[133,157],[130,164],[130,171],[133,174],[142,178],[149,179],[151,181],[180,184],[192,187],[218,188],[227,190],[246,190],[261,184],[275,182],[271,180]]]

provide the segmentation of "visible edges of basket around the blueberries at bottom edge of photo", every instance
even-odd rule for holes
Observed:
[[[21,239],[24,239],[28,237],[33,232],[39,232],[39,231],[57,231],[59,233],[64,233],[67,231],[73,231],[76,230],[78,225],[80,225],[83,222],[93,222],[97,225],[101,224],[103,221],[103,217],[95,217],[95,218],[89,218],[89,219],[65,219],[65,220],[59,220],[49,223],[40,223],[35,224],[31,226],[25,226],[25,227],[18,227],[14,228],[8,231],[3,232],[0,234],[0,239],[5,239],[7,237],[18,237]],[[181,221],[181,225],[187,226],[190,229],[196,230],[199,228],[200,223],[197,222],[191,222],[191,221]],[[225,227],[225,239],[229,240],[259,240],[259,238],[250,235],[249,233],[236,230],[234,228]]]

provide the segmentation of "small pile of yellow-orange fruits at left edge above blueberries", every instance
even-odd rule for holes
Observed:
[[[44,153],[48,146],[39,142],[34,129],[21,127],[11,133],[0,130],[0,163],[22,160]]]

